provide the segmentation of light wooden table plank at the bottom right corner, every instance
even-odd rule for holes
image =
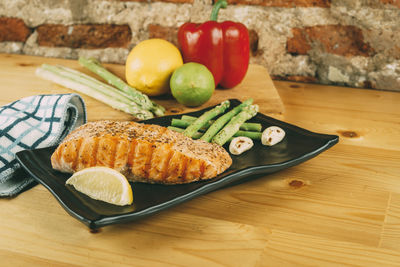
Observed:
[[[273,231],[257,267],[399,266],[399,258],[400,252],[388,249]]]

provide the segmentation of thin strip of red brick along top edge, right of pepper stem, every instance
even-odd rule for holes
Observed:
[[[331,0],[228,0],[228,4],[268,7],[330,7]]]

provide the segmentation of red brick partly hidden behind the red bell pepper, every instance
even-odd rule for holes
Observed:
[[[158,24],[150,24],[148,27],[149,38],[165,39],[178,46],[178,28],[168,27]],[[262,51],[258,50],[258,34],[255,30],[249,30],[250,51],[253,56],[259,55]]]

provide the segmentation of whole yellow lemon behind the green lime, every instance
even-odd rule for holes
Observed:
[[[162,95],[169,91],[169,79],[182,64],[182,55],[172,43],[157,38],[145,40],[128,55],[126,81],[149,96]]]

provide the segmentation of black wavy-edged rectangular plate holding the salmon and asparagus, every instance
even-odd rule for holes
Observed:
[[[232,107],[239,103],[238,100],[231,100]],[[199,116],[210,108],[212,107],[188,114]],[[144,121],[144,123],[168,126],[172,118],[180,116],[160,117]],[[254,178],[259,174],[272,173],[297,165],[315,157],[339,140],[336,135],[313,133],[260,113],[251,121],[261,123],[263,129],[272,125],[281,127],[286,131],[285,139],[272,147],[255,142],[251,150],[240,156],[232,156],[233,163],[227,171],[208,181],[185,185],[131,183],[134,204],[125,207],[93,200],[73,187],[66,186],[65,181],[70,175],[51,168],[50,156],[55,147],[21,151],[17,153],[17,159],[57,198],[69,214],[95,229],[105,225],[134,221],[210,191]]]

